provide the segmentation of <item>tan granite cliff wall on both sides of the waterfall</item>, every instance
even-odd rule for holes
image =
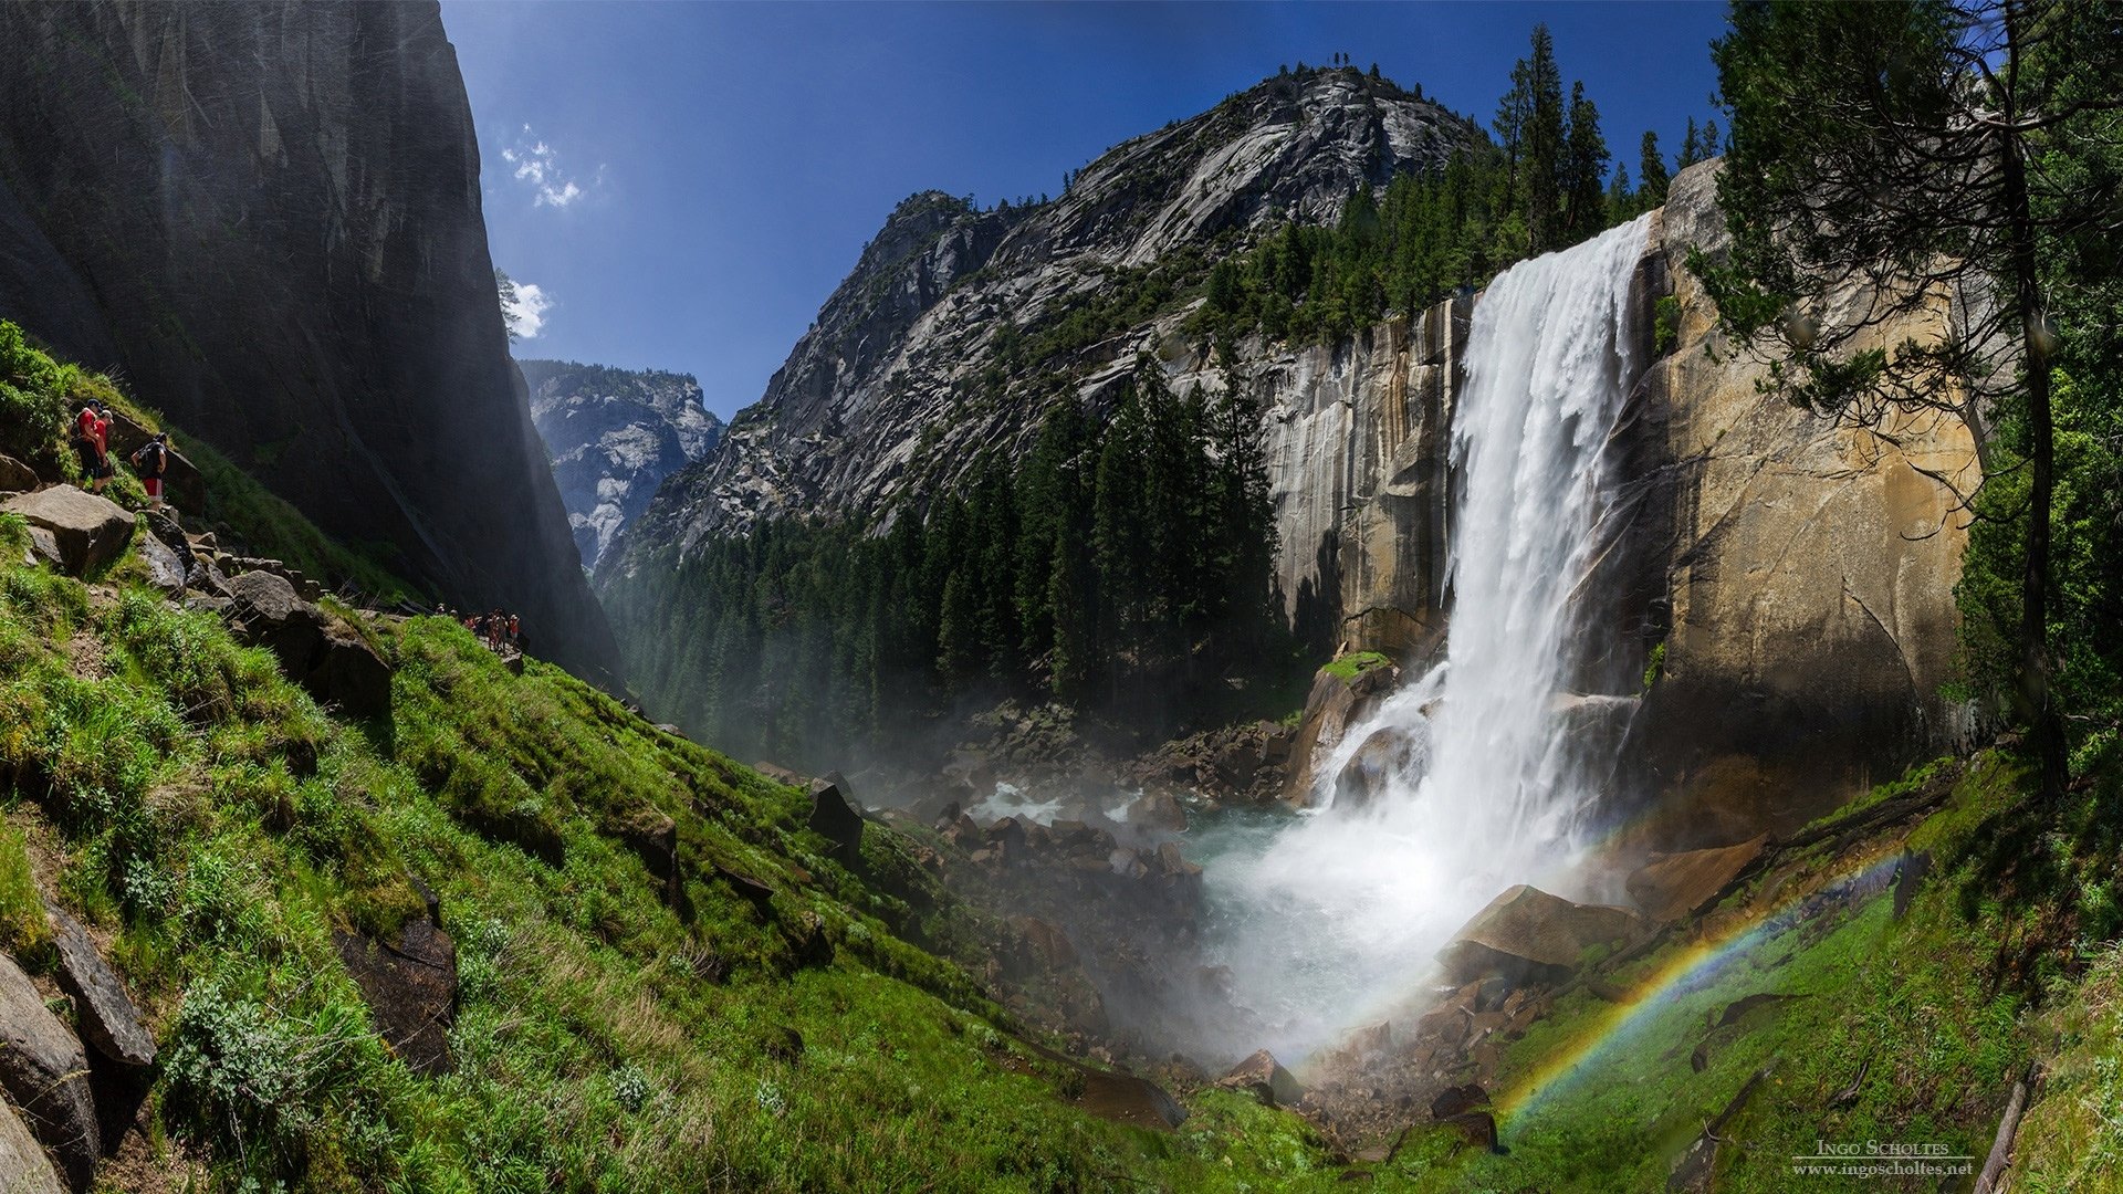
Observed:
[[[1715,170],[1673,181],[1635,270],[1639,323],[1671,300],[1673,340],[1609,442],[1622,489],[1586,584],[1605,650],[1558,693],[1586,733],[1620,744],[1611,809],[1654,848],[1790,831],[1970,731],[1940,688],[1974,438],[1936,414],[1845,427],[1756,389],[1762,365],[1718,336],[1686,268],[1690,246],[1726,242]],[[1284,591],[1321,595],[1352,650],[1422,659],[1442,633],[1444,431],[1467,310],[1439,304],[1333,348],[1246,346]],[[1921,340],[1945,319],[1940,304],[1879,336]]]

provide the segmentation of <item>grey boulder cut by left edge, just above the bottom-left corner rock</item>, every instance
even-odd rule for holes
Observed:
[[[74,1190],[96,1179],[102,1130],[89,1056],[13,958],[0,954],[0,1088]]]

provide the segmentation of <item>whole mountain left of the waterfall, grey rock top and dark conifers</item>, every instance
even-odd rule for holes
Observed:
[[[1350,470],[1282,355],[1342,361],[1664,195],[1656,142],[1643,187],[1609,185],[1596,106],[1565,100],[1546,40],[1529,62],[1503,144],[1376,72],[1299,68],[1059,198],[907,200],[760,404],[607,552],[643,697],[800,756],[907,739],[968,695],[1172,731],[1301,684],[1350,637]]]

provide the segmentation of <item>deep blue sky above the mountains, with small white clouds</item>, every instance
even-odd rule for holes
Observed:
[[[1129,136],[1346,51],[1484,125],[1535,21],[1637,172],[1713,115],[1724,4],[686,4],[444,0],[520,357],[760,397],[909,193],[1055,193]]]

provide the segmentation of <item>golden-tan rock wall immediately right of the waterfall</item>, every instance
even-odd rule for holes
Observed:
[[[1664,646],[1620,786],[1664,850],[1788,833],[1966,733],[1940,688],[1974,438],[1940,414],[1860,429],[1758,393],[1764,365],[1718,336],[1686,270],[1690,246],[1726,244],[1715,176],[1703,164],[1669,191],[1675,344],[1630,397],[1658,459],[1626,535],[1660,593],[1643,633]],[[1879,338],[1923,340],[1949,314],[1940,300]]]

